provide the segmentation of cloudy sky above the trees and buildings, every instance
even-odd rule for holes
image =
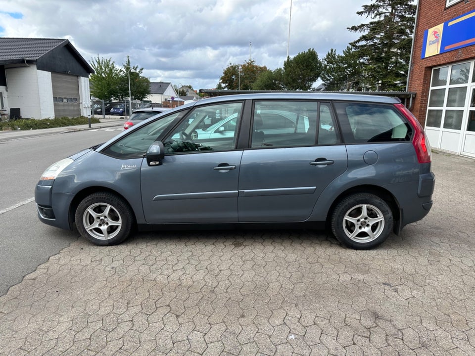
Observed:
[[[230,64],[287,55],[290,0],[0,0],[0,37],[68,39],[88,62],[127,55],[152,82],[212,89]],[[341,52],[371,0],[292,0],[288,54]]]

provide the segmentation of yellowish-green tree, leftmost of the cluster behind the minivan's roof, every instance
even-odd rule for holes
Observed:
[[[254,60],[245,61],[244,64],[230,63],[223,71],[220,83],[228,90],[250,90],[262,72],[267,71],[267,67],[259,66]]]

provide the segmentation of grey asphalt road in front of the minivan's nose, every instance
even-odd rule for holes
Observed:
[[[0,142],[0,295],[79,236],[38,220],[33,197],[41,174],[50,164],[118,133],[78,131]]]

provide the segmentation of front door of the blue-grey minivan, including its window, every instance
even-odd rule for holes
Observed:
[[[242,102],[193,108],[163,139],[161,165],[142,162],[141,194],[147,223],[238,221],[238,178],[242,150],[236,149]],[[230,135],[210,136],[209,117],[220,123],[234,115]],[[219,124],[218,124],[219,125]]]

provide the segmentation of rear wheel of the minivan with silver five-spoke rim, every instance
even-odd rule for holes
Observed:
[[[342,199],[332,214],[332,232],[343,245],[367,250],[383,243],[392,231],[394,220],[389,205],[369,193],[352,194]]]

